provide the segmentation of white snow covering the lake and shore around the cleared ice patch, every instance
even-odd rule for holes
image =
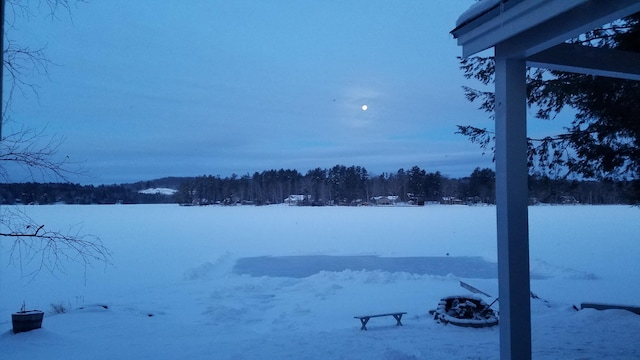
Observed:
[[[8,265],[10,244],[1,244],[0,359],[498,357],[497,327],[444,326],[428,315],[440,298],[470,294],[459,287],[460,273],[497,294],[497,279],[469,276],[464,261],[441,262],[438,271],[451,267],[447,275],[234,271],[237,261],[247,261],[241,259],[269,255],[495,262],[495,207],[56,205],[26,211],[49,228],[81,225],[99,234],[114,266],[85,275],[66,263],[65,273],[40,273],[29,282]],[[640,209],[538,206],[529,214],[532,290],[545,300],[532,300],[534,358],[640,358],[640,316],[572,309],[581,302],[640,305]],[[314,266],[313,257],[304,259],[294,262],[300,272]],[[42,329],[14,335],[10,314],[23,300],[48,313]],[[51,304],[70,311],[52,314]],[[408,312],[403,327],[375,318],[364,332],[353,318],[390,311]]]

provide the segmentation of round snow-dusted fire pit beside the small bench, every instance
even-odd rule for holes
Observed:
[[[433,318],[443,324],[464,327],[488,327],[498,325],[498,315],[482,299],[470,296],[442,298]]]

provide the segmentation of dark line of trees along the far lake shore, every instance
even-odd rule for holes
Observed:
[[[142,190],[169,188],[173,194],[142,193]],[[3,204],[280,204],[290,195],[299,195],[299,205],[361,205],[375,197],[392,196],[397,202],[424,204],[495,203],[495,172],[476,168],[469,176],[450,178],[427,172],[418,166],[393,173],[370,174],[361,166],[336,165],[315,168],[305,174],[280,169],[253,175],[228,177],[203,175],[167,177],[118,185],[71,183],[0,184]],[[581,181],[529,177],[529,197],[533,204],[584,203],[628,204],[629,184],[623,181]]]

